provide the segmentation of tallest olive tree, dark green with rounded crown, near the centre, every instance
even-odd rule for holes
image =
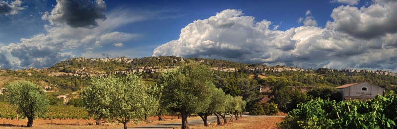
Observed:
[[[182,129],[189,129],[190,113],[205,109],[209,104],[213,84],[213,71],[198,62],[190,61],[180,68],[164,73],[162,105],[181,113]]]

